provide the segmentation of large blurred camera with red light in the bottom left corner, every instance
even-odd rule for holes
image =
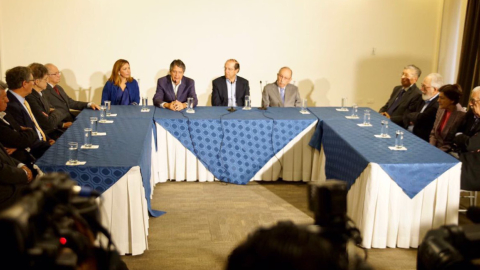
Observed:
[[[0,212],[0,258],[12,269],[126,269],[100,224],[95,197],[66,174],[30,184],[22,198]],[[95,245],[98,233],[106,247]]]

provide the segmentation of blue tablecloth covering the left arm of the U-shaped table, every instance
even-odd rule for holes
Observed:
[[[107,117],[114,123],[98,124],[98,132],[106,132],[107,136],[92,137],[92,144],[99,149],[80,149],[83,145],[83,129],[90,127],[91,116],[99,117],[98,111],[83,110],[75,123],[48,149],[37,161],[44,172],[65,172],[70,174],[81,186],[94,188],[104,192],[114,185],[133,166],[140,166],[145,197],[152,216],[163,214],[151,209],[150,175],[151,175],[151,143],[153,115],[155,107],[150,112],[140,112],[139,106],[112,106],[116,117]],[[86,161],[85,165],[67,166],[68,142],[78,142],[78,160]]]

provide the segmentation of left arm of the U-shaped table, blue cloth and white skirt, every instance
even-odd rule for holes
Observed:
[[[102,224],[110,231],[120,254],[138,255],[148,248],[148,218],[162,212],[150,207],[155,164],[153,114],[141,112],[139,106],[111,106],[107,117],[113,123],[98,123],[92,136],[98,149],[80,149],[84,128],[90,127],[90,117],[99,118],[99,111],[85,109],[74,124],[37,161],[44,172],[68,173],[80,186],[102,193],[100,203]],[[84,165],[67,166],[68,142],[78,142],[78,160]]]

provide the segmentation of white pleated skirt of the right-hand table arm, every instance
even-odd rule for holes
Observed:
[[[312,180],[325,181],[325,154],[315,150]],[[347,195],[347,214],[366,248],[416,248],[425,234],[458,223],[461,163],[413,199],[376,163],[369,163]]]

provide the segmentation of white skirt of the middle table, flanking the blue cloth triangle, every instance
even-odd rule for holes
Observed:
[[[213,174],[186,149],[180,141],[158,123],[155,183],[176,181],[215,181]],[[282,150],[272,157],[251,180],[310,181],[313,148],[308,143],[315,132],[317,121],[310,124]],[[279,162],[281,161],[281,164]],[[153,163],[153,159],[152,159]],[[158,166],[157,166],[158,165]],[[283,170],[281,170],[283,166]]]

